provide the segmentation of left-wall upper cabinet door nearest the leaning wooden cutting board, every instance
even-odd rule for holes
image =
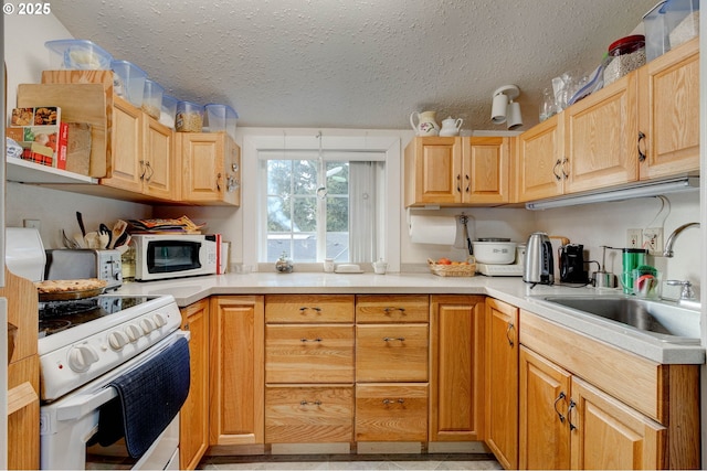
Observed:
[[[109,179],[101,179],[101,184],[143,192],[145,175],[145,158],[143,147],[143,119],[139,108],[126,100],[115,97],[113,106],[113,174]]]

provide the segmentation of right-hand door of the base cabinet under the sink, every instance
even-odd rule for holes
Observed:
[[[572,377],[572,469],[665,469],[666,429]]]

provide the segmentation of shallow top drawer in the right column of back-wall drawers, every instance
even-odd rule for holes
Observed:
[[[356,322],[429,322],[429,296],[371,295],[356,297]]]

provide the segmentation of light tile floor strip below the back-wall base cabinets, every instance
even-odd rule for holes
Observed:
[[[207,457],[202,470],[500,470],[493,454],[268,454]]]

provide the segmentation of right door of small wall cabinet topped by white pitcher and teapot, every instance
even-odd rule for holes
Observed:
[[[474,205],[508,203],[509,139],[462,138],[462,202]]]

